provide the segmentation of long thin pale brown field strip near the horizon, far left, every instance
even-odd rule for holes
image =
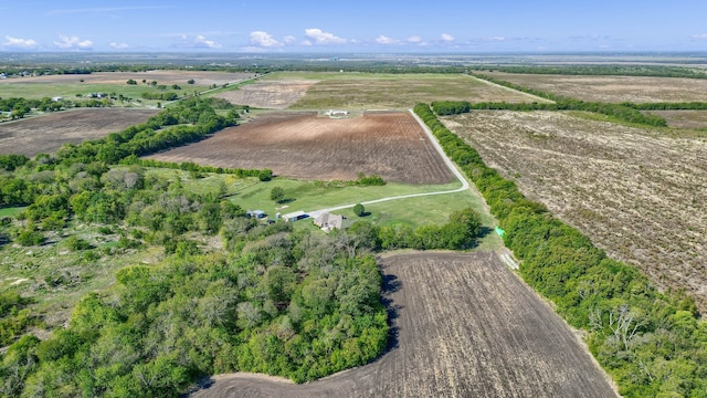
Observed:
[[[182,88],[187,87],[187,81],[194,80],[199,86],[222,85],[229,82],[242,81],[253,77],[253,73],[213,72],[213,71],[147,71],[147,72],[95,72],[92,74],[62,74],[44,75],[3,80],[3,84],[56,84],[56,83],[78,83],[84,84],[126,84],[129,78],[141,84],[157,81],[159,84],[178,84]]]

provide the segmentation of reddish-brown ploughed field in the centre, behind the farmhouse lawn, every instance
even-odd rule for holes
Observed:
[[[334,119],[314,113],[270,113],[202,142],[152,155],[167,161],[262,169],[300,179],[445,184],[452,172],[408,113]]]

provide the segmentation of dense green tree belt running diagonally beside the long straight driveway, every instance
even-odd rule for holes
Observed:
[[[658,292],[639,270],[609,259],[578,230],[526,199],[513,181],[487,167],[478,153],[435,117],[415,113],[445,153],[466,172],[521,259],[526,282],[556,304],[624,397],[699,397],[707,390],[707,322],[694,300]]]

